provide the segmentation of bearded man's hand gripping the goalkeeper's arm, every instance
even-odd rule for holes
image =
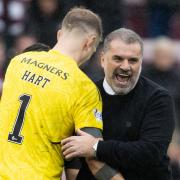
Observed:
[[[61,141],[62,152],[65,159],[73,157],[94,157],[93,145],[99,141],[84,131],[76,132],[79,136],[71,136]]]

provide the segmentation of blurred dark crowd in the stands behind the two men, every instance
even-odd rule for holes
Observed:
[[[65,13],[85,6],[100,15],[104,36],[119,27],[144,39],[142,74],[174,98],[177,128],[169,149],[174,180],[180,179],[180,0],[0,0],[0,92],[10,59],[36,42],[53,47]],[[101,45],[83,71],[103,77]]]

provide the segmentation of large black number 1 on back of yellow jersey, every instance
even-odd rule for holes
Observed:
[[[19,108],[19,112],[16,117],[16,121],[15,121],[13,130],[11,133],[9,133],[9,136],[8,136],[8,141],[10,141],[10,142],[21,144],[23,141],[24,137],[22,135],[20,135],[20,133],[22,130],[23,122],[24,122],[25,111],[29,105],[30,99],[31,99],[31,96],[25,95],[25,94],[23,94],[22,96],[19,97],[21,106]]]

